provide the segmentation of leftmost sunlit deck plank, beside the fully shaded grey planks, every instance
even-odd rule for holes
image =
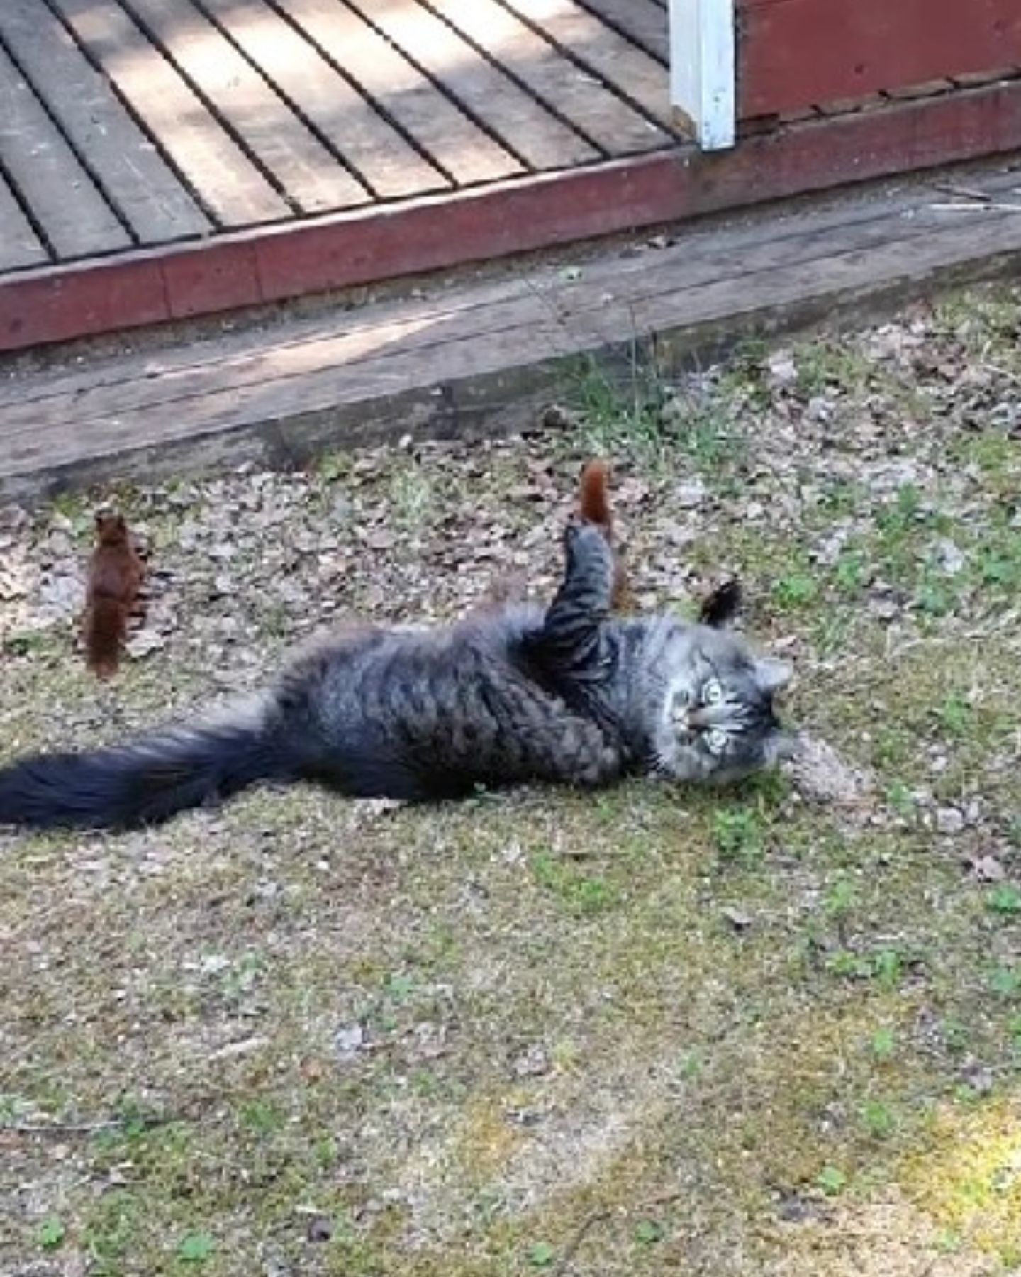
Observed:
[[[223,226],[287,217],[287,202],[112,0],[54,0]]]

